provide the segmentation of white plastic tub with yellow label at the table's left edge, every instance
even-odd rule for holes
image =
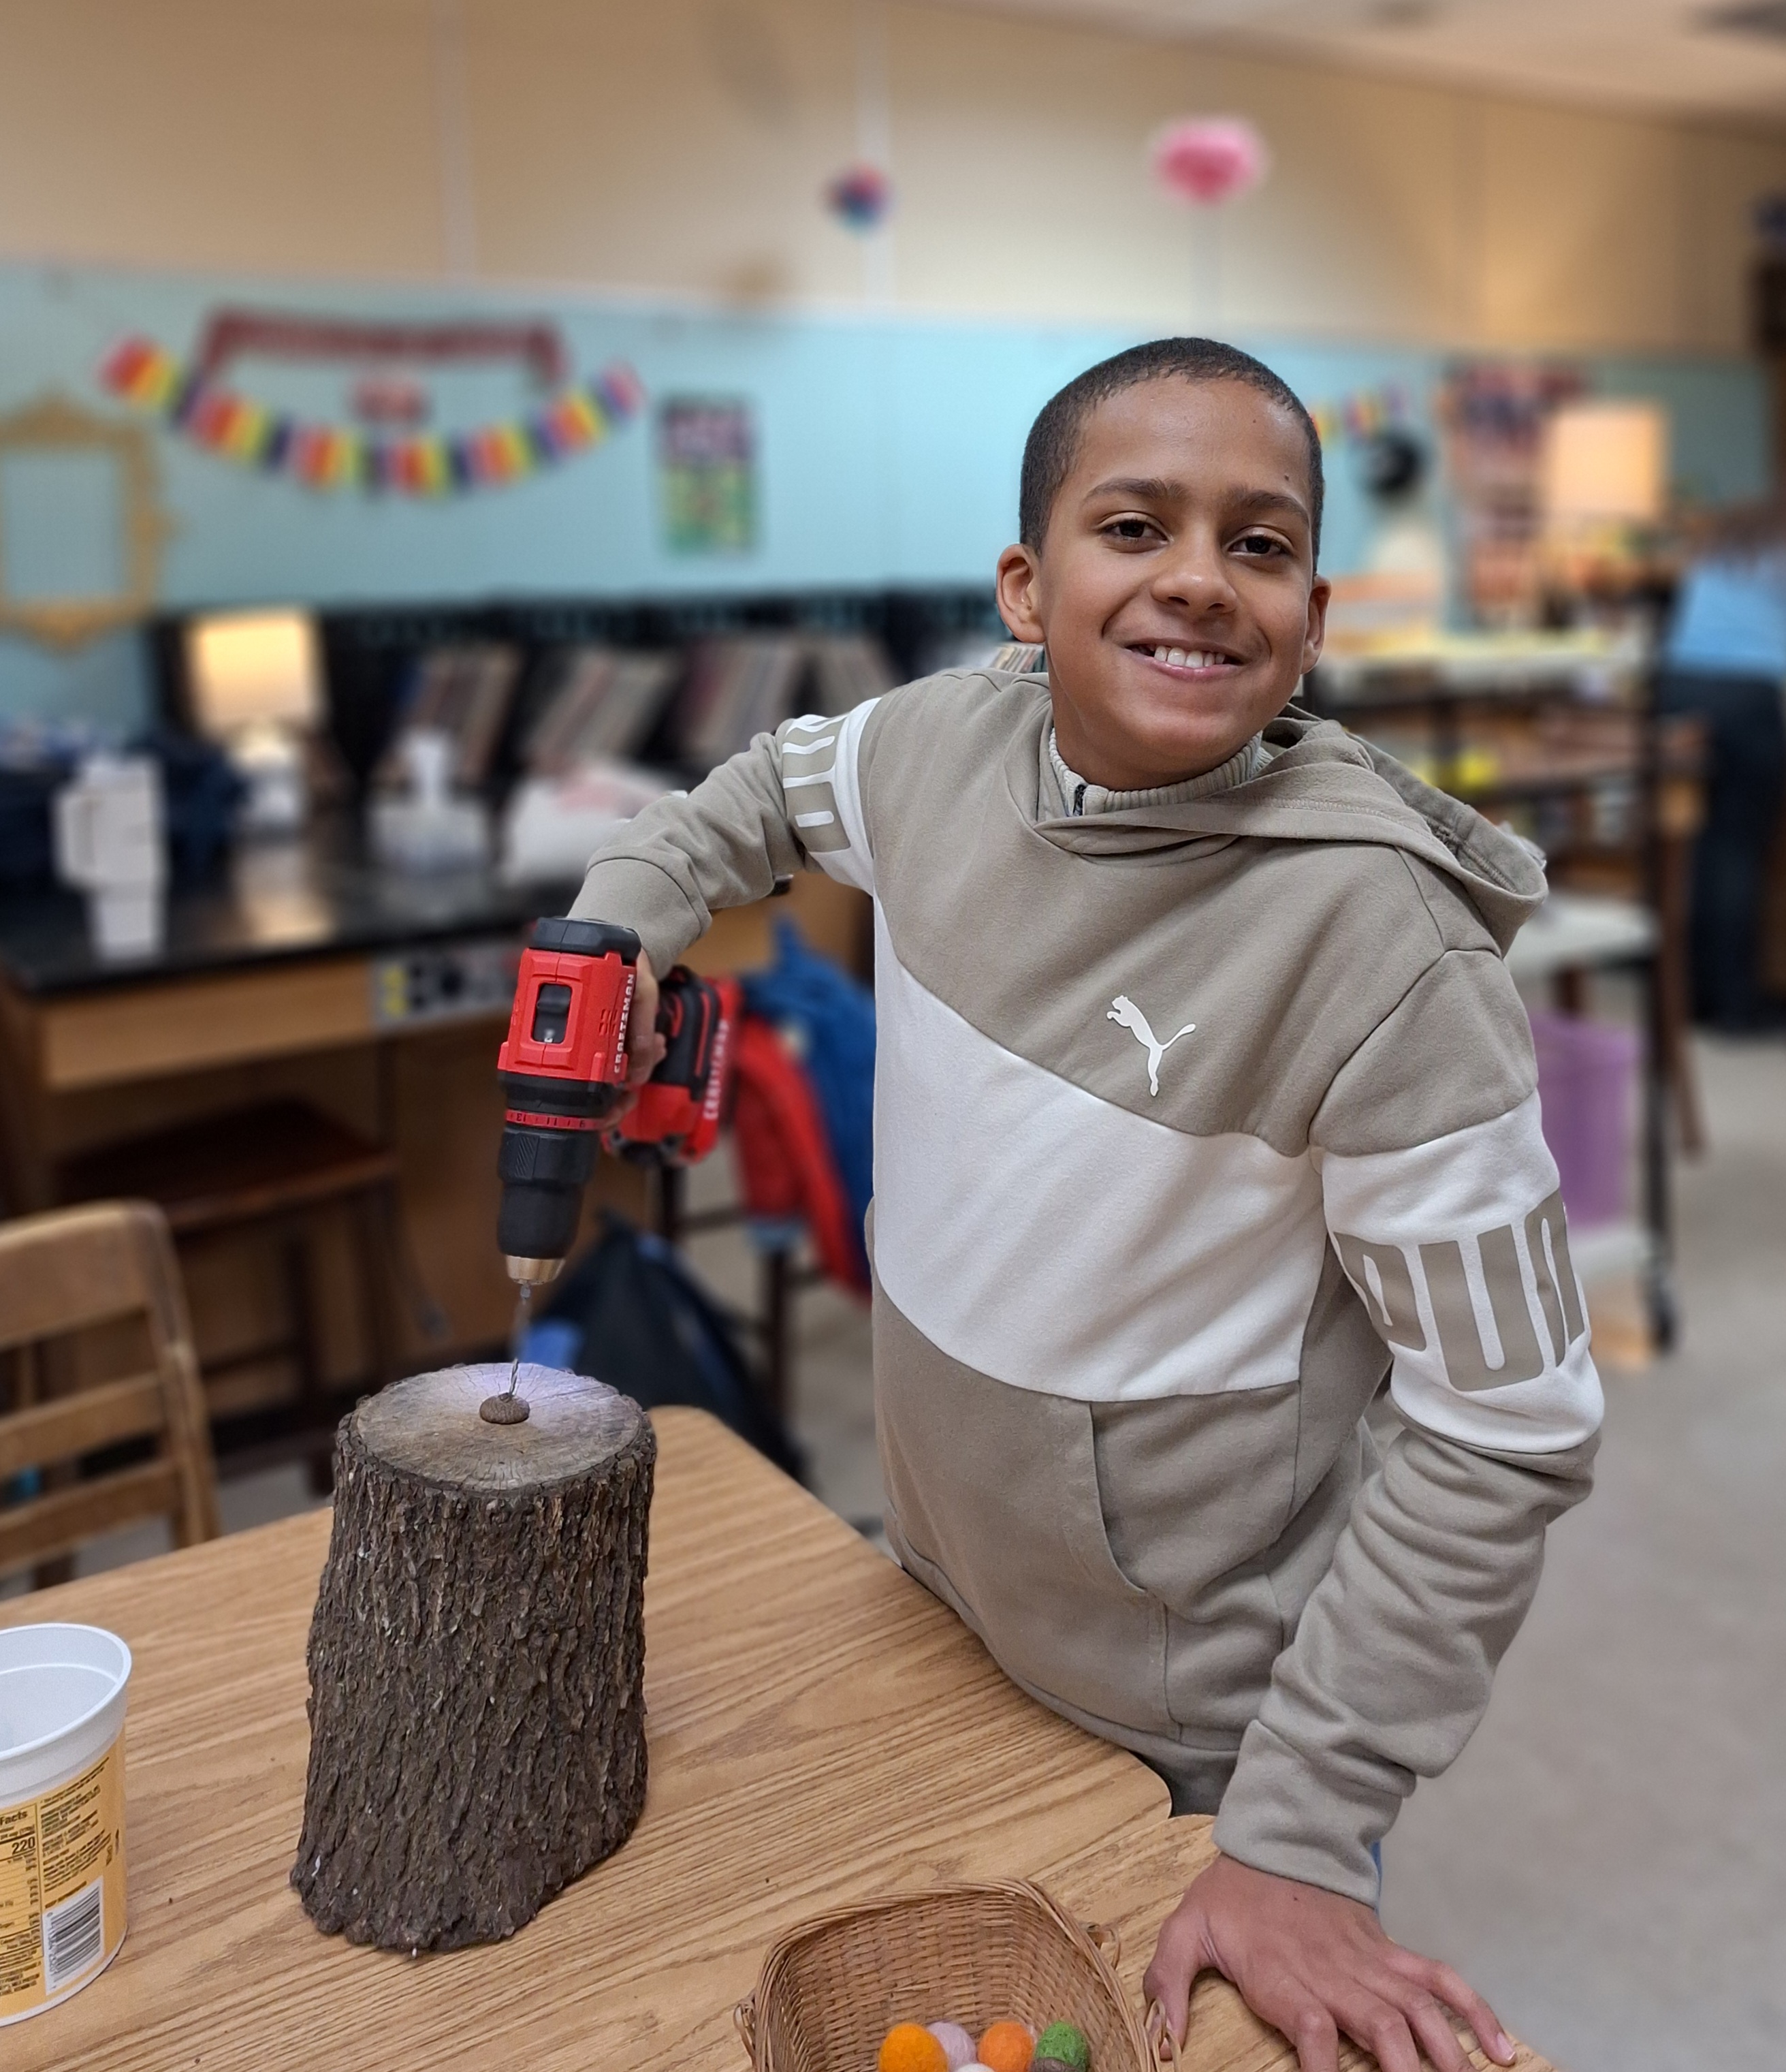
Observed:
[[[54,2008],[124,1941],[124,1695],[102,1627],[0,1629],[0,2026]]]

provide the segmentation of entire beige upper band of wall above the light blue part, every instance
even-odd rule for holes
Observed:
[[[1276,155],[1218,220],[1144,164],[1198,110]],[[883,126],[891,269],[818,205]],[[899,0],[0,0],[8,257],[1740,350],[1774,186],[1786,135]]]

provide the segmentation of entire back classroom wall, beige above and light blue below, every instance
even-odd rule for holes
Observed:
[[[253,300],[543,315],[584,373],[626,358],[653,398],[756,414],[760,541],[731,559],[665,547],[649,421],[448,506],[319,497],[162,433],[174,607],[978,584],[1034,408],[1162,329],[1237,338],[1309,402],[1394,383],[1417,423],[1448,352],[1581,354],[1670,402],[1695,495],[1765,485],[1738,352],[1786,133],[899,0],[0,0],[0,410],[116,410],[116,338],[186,352]],[[1148,182],[1148,133],[1189,110],[1276,153],[1220,218]],[[895,174],[883,238],[818,201],[856,153]],[[340,416],[340,371],[307,379],[255,369]],[[1343,450],[1330,470],[1345,570],[1367,514]],[[141,711],[128,638],[0,638],[0,719]]]

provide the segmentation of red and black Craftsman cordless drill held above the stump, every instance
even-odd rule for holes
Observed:
[[[719,1138],[738,988],[675,966],[659,990],[667,1051],[626,1115],[626,1017],[638,937],[599,920],[535,922],[516,974],[497,1080],[497,1245],[510,1280],[551,1280],[576,1239],[599,1144],[628,1158],[694,1164]]]

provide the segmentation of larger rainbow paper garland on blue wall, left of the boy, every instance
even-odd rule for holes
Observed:
[[[300,423],[236,390],[203,381],[151,338],[126,338],[106,356],[99,379],[124,402],[166,419],[195,445],[305,489],[361,489],[406,497],[448,497],[526,481],[599,445],[644,404],[626,365],[561,387],[532,416],[466,433],[387,437],[356,425]]]

